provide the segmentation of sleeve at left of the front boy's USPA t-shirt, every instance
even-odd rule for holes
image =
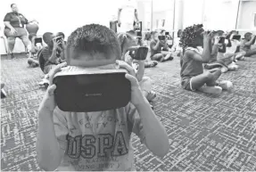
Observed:
[[[66,151],[69,128],[67,119],[65,119],[65,112],[59,108],[54,110],[54,130],[61,149]]]

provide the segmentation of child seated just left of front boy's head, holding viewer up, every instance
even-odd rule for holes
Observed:
[[[64,40],[63,38],[57,40],[53,33],[46,32],[43,35],[43,40],[45,42],[45,47],[43,47],[40,58],[43,58],[44,63],[44,73],[47,74],[56,65],[62,63],[64,60]]]

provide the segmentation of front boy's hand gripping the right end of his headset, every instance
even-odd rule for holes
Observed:
[[[141,102],[145,101],[145,97],[142,94],[138,81],[136,79],[136,73],[133,67],[129,66],[125,61],[117,61],[121,69],[128,70],[128,74],[126,74],[126,78],[131,83],[131,103],[133,105],[138,106]]]

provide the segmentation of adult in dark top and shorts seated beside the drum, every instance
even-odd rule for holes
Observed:
[[[24,28],[24,25],[36,20],[27,20],[27,18],[19,13],[16,4],[11,4],[11,8],[12,12],[8,12],[4,17],[4,35],[5,37],[7,37],[11,58],[14,58],[13,49],[16,37],[19,37],[21,39],[26,50],[28,50],[29,38],[27,35],[27,30]]]

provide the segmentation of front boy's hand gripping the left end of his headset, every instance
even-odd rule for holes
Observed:
[[[53,112],[56,107],[56,102],[54,100],[54,90],[56,86],[53,84],[54,75],[61,71],[62,67],[67,66],[66,62],[63,62],[59,65],[57,65],[53,70],[50,70],[48,76],[49,76],[49,86],[46,90],[45,96],[43,98],[43,101],[41,102],[39,106],[39,112],[40,111],[50,111]],[[53,113],[52,113],[53,114]]]

